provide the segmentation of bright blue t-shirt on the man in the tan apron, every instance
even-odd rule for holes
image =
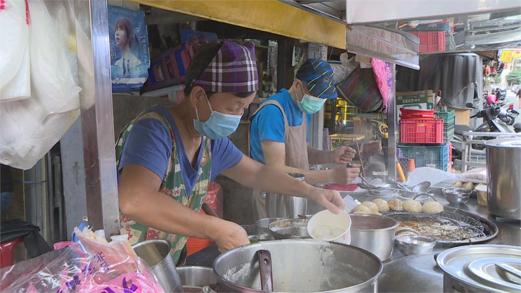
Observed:
[[[275,100],[284,109],[288,124],[290,126],[302,125],[302,110],[293,102],[291,95],[286,89],[282,89],[278,94],[270,97],[264,103]],[[307,115],[306,129],[309,129],[311,114]],[[284,117],[282,112],[275,105],[264,106],[255,117],[253,117],[250,126],[250,154],[253,160],[266,164],[264,154],[262,152],[261,142],[272,140],[277,142],[286,142],[284,138]],[[307,132],[306,141],[309,141],[309,132]]]

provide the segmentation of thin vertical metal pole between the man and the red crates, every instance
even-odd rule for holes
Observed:
[[[392,87],[387,100],[387,125],[389,126],[388,139],[388,174],[389,178],[396,179],[396,65],[392,64]]]

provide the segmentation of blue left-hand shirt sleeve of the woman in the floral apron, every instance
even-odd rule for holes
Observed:
[[[118,180],[127,165],[143,166],[163,180],[170,154],[172,138],[168,128],[157,119],[143,119],[134,124],[123,145],[119,160]]]

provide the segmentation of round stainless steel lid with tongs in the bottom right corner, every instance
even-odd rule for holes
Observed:
[[[440,253],[436,261],[445,273],[483,291],[521,292],[521,247],[456,247]]]

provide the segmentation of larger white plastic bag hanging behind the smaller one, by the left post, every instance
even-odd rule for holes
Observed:
[[[0,162],[20,169],[32,168],[78,118],[81,91],[66,52],[66,28],[74,27],[73,22],[52,18],[46,7],[60,9],[69,3],[28,4],[31,97],[0,107]]]

